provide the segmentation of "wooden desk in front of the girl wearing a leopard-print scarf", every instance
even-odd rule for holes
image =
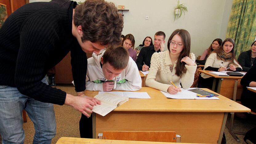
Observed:
[[[234,93],[234,84],[238,79],[242,79],[242,77],[234,77],[234,76],[218,76],[214,74],[210,74],[210,70],[198,70],[201,73],[207,74],[211,77],[214,77],[212,90],[216,91],[218,94],[225,96],[226,98],[232,99]],[[218,80],[218,87],[215,90],[215,85]]]

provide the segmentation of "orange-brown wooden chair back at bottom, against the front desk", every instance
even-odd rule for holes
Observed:
[[[150,141],[150,142],[176,142],[174,131],[104,131],[102,139]]]

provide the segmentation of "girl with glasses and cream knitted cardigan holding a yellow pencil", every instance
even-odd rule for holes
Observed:
[[[195,55],[190,53],[189,32],[183,29],[175,30],[168,40],[167,47],[167,51],[152,55],[146,86],[176,94],[181,91],[180,83],[184,89],[190,88],[197,68]]]

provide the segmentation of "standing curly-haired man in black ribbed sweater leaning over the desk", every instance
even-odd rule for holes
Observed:
[[[22,110],[34,123],[33,143],[51,143],[56,133],[53,104],[85,116],[100,104],[84,94],[85,52],[118,46],[123,19],[113,3],[86,0],[33,2],[14,11],[0,29],[0,133],[3,143],[24,142]],[[47,71],[71,52],[77,96],[52,88]]]

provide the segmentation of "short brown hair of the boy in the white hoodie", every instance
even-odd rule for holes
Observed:
[[[129,52],[126,48],[118,46],[108,48],[103,54],[103,65],[108,62],[116,70],[125,69],[129,61]]]

